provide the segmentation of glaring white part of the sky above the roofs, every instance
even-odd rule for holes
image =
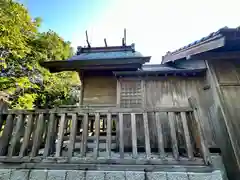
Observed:
[[[112,0],[87,28],[92,46],[120,45],[123,29],[127,43],[160,63],[169,50],[198,40],[223,26],[240,24],[237,0]],[[79,36],[81,33],[81,36]],[[74,46],[83,45],[85,32],[73,34]]]

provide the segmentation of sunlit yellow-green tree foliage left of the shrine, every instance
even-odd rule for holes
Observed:
[[[71,90],[79,85],[75,72],[51,74],[41,61],[73,55],[70,42],[53,31],[38,32],[40,18],[13,1],[0,0],[0,91],[10,95],[14,108],[74,104]]]

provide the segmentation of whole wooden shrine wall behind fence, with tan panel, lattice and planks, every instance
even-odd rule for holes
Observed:
[[[166,76],[155,78],[120,78],[120,107],[177,107],[189,106],[188,98],[193,96],[197,99],[202,114],[201,123],[208,140],[209,147],[216,147],[216,139],[213,131],[211,117],[211,106],[213,97],[211,91],[204,90],[207,85],[205,77],[180,77]],[[131,82],[136,82],[133,86]],[[139,91],[139,84],[141,90]],[[131,85],[131,86],[130,86]],[[84,98],[83,104],[116,104],[117,99],[117,80],[111,76],[91,76],[84,78]],[[136,92],[134,94],[134,89]],[[124,91],[123,91],[124,90]],[[141,95],[139,95],[142,94]],[[132,95],[137,95],[132,96]],[[133,97],[133,101],[126,101]],[[137,98],[137,99],[136,99]],[[136,101],[137,100],[137,101]],[[141,102],[139,102],[141,101]],[[137,103],[136,103],[137,102]],[[128,104],[131,103],[131,104]],[[142,105],[141,105],[142,104]],[[165,113],[162,113],[164,143],[166,147],[171,147],[169,123]],[[148,114],[151,147],[157,148],[157,129],[153,114]],[[140,116],[137,120],[137,142],[139,147],[144,146],[143,119]],[[179,124],[179,135],[182,131]],[[194,125],[193,125],[194,130]],[[126,148],[131,147],[131,122],[130,117],[124,115],[124,143]]]

